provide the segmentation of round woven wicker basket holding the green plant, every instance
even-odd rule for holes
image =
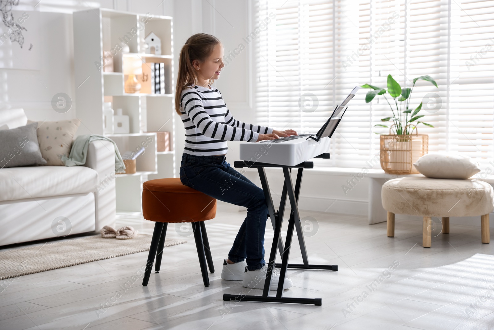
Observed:
[[[418,173],[413,163],[429,151],[427,134],[381,135],[380,140],[381,168],[384,172],[389,174]]]

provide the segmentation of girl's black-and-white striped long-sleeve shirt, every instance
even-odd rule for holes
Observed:
[[[221,93],[214,87],[193,86],[182,91],[180,118],[185,126],[184,153],[197,156],[221,155],[226,141],[256,142],[259,134],[273,129],[246,124],[233,118]]]

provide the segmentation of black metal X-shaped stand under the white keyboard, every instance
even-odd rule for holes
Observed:
[[[317,158],[329,158],[329,153],[323,153]],[[295,303],[295,304],[314,304],[316,306],[321,306],[322,299],[321,298],[293,298],[293,297],[282,297],[283,295],[283,284],[285,282],[285,277],[287,274],[288,268],[293,269],[318,269],[318,270],[331,270],[337,271],[338,265],[310,265],[309,260],[307,258],[307,249],[305,248],[304,235],[302,232],[302,226],[300,224],[300,215],[298,213],[298,195],[300,192],[300,184],[302,182],[302,171],[304,168],[314,168],[313,162],[303,162],[297,164],[295,166],[284,166],[284,165],[275,165],[275,164],[267,164],[260,162],[252,162],[252,161],[235,161],[235,167],[249,167],[249,168],[257,168],[259,172],[259,178],[261,179],[262,189],[264,191],[264,196],[266,197],[266,203],[268,205],[269,217],[271,218],[271,223],[273,225],[273,229],[275,231],[275,235],[273,238],[273,245],[271,246],[271,253],[269,256],[268,262],[268,271],[266,275],[266,281],[264,283],[264,289],[262,291],[262,296],[257,295],[243,295],[243,294],[223,294],[223,300],[243,300],[243,301],[256,301],[256,302],[276,302],[276,303]],[[283,192],[280,201],[280,207],[278,211],[274,210],[273,198],[271,197],[271,192],[269,189],[268,181],[266,179],[266,172],[264,170],[265,167],[281,167],[283,168],[283,174],[285,176],[285,183],[283,185]],[[295,182],[295,187],[293,187],[293,183],[291,181],[290,173],[292,167],[298,168],[297,170],[297,179]],[[285,211],[286,198],[288,193],[288,199],[290,201],[291,211],[290,217],[288,219],[288,231],[287,237],[285,241],[284,248],[283,240],[281,237],[281,227],[283,222],[283,213]],[[288,257],[290,255],[290,246],[291,239],[293,236],[293,228],[295,227],[297,231],[298,243],[300,244],[300,251],[302,253],[303,264],[289,264]],[[278,245],[278,249],[280,250],[280,256],[282,257],[282,263],[275,263],[276,253]],[[271,283],[271,277],[273,273],[273,267],[281,268],[280,269],[280,281],[278,283],[278,290],[276,291],[276,297],[269,296],[269,285]]]

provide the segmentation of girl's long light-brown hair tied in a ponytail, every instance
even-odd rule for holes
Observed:
[[[180,57],[178,62],[178,75],[177,85],[175,90],[175,111],[181,115],[180,112],[180,97],[182,91],[190,85],[197,84],[197,72],[192,66],[192,61],[198,60],[199,63],[203,63],[211,55],[214,47],[221,42],[218,38],[206,33],[198,33],[191,36],[185,42],[180,50]],[[213,83],[213,79],[209,80],[209,85]]]

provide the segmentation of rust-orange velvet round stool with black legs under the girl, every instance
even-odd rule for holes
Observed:
[[[214,273],[214,266],[204,222],[216,216],[216,199],[183,185],[179,178],[146,181],[142,188],[142,215],[144,219],[155,222],[142,285],[148,285],[155,256],[155,271],[160,272],[168,223],[190,222],[203,282],[209,286],[206,261],[211,273]]]

